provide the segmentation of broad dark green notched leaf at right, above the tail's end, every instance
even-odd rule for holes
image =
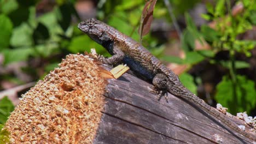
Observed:
[[[216,100],[232,114],[237,112],[250,112],[256,105],[255,84],[246,76],[237,75],[236,95],[232,93],[232,82],[228,76],[224,76],[217,85]],[[237,110],[237,111],[236,111]]]

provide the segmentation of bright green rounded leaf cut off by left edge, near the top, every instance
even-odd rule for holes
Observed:
[[[9,46],[11,32],[13,31],[13,23],[11,23],[10,19],[5,15],[0,15],[0,50]]]

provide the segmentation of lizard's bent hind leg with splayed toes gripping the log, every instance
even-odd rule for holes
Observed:
[[[153,87],[150,90],[150,93],[158,94],[158,99],[160,100],[162,96],[167,98],[167,77],[164,74],[156,74],[153,81]]]

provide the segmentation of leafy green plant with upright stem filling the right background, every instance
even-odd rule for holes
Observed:
[[[237,39],[239,34],[243,34],[256,25],[256,2],[250,0],[237,1],[236,4],[243,5],[241,14],[232,15],[229,0],[218,0],[216,5],[207,4],[208,14],[202,17],[208,21],[215,21],[215,28],[203,25],[198,29],[191,17],[185,14],[187,28],[183,32],[182,48],[186,53],[186,59],[165,58],[167,61],[178,63],[194,64],[206,60],[212,64],[220,65],[229,70],[229,74],[223,77],[223,80],[217,86],[216,100],[229,107],[229,112],[247,111],[248,113],[255,109],[256,94],[255,82],[249,80],[246,76],[237,75],[237,69],[249,68],[246,61],[237,61],[235,55],[243,53],[247,57],[255,45],[255,40]],[[198,51],[195,50],[195,40],[202,43],[206,40],[212,49]],[[215,55],[223,50],[229,52],[229,59],[216,59]]]

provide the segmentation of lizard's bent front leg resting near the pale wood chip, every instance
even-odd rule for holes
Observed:
[[[109,57],[109,58],[100,57],[100,61],[108,65],[115,65],[123,61],[125,54],[117,46],[113,46],[112,53],[113,53],[112,57]]]

